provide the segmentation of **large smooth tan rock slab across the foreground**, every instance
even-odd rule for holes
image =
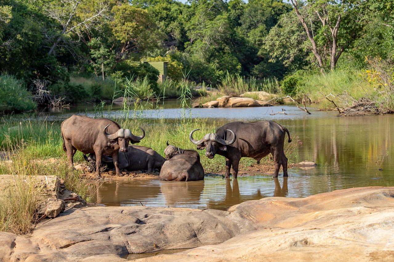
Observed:
[[[0,261],[393,261],[394,187],[269,197],[228,211],[155,207],[70,208],[31,236],[0,232]],[[191,249],[193,248],[193,249]]]

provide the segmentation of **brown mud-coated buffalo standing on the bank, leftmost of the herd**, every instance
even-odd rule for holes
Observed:
[[[87,116],[73,115],[61,123],[63,150],[67,153],[70,166],[73,166],[73,157],[77,150],[84,154],[95,153],[98,159],[96,162],[98,177],[100,176],[102,155],[110,155],[113,158],[116,173],[120,175],[119,151],[127,152],[129,142],[138,143],[144,138],[145,131],[142,128],[141,130],[142,136],[137,137],[129,129],[121,128],[110,119],[93,119]]]

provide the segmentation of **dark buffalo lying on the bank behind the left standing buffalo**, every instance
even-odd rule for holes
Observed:
[[[96,164],[96,155],[89,154],[84,155],[84,158],[89,162],[88,171],[93,170]],[[112,164],[113,159],[103,155],[101,158],[102,162],[107,162],[108,166]],[[119,169],[127,171],[157,171],[160,172],[162,165],[164,164],[164,157],[154,151],[152,148],[146,146],[135,146],[129,145],[127,152],[119,152]]]

